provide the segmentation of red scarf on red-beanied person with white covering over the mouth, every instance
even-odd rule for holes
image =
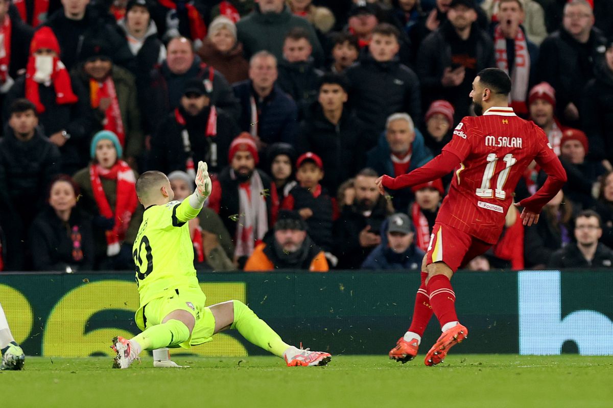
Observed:
[[[64,64],[58,57],[53,57],[51,63],[51,75],[42,78],[39,74],[40,67],[37,68],[37,61],[44,61],[44,57],[30,56],[26,67],[26,98],[36,106],[37,113],[43,113],[45,106],[40,103],[39,86],[53,83],[55,87],[55,102],[58,105],[67,105],[78,101],[77,95],[72,92],[70,75]],[[44,75],[47,76],[47,75]]]

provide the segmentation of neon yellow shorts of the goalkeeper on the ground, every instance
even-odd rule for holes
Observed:
[[[161,324],[164,317],[175,310],[185,310],[194,316],[196,324],[188,341],[181,343],[184,349],[191,346],[208,343],[215,332],[215,316],[210,308],[205,307],[207,296],[198,286],[182,286],[169,289],[162,297],[151,300],[147,305],[140,306],[135,317],[140,330]]]

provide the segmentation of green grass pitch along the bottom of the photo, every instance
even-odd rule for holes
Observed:
[[[422,357],[423,358],[423,357]],[[276,357],[177,356],[191,368],[129,369],[110,358],[28,357],[0,372],[1,407],[613,407],[613,356],[449,355],[429,368],[336,356],[287,368]]]

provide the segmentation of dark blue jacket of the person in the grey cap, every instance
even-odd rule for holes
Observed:
[[[424,251],[415,243],[402,254],[397,254],[387,246],[387,220],[381,225],[381,243],[368,254],[362,269],[411,269],[419,270],[424,259]]]

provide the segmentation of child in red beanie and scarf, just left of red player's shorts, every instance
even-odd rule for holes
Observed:
[[[425,252],[430,244],[430,234],[432,234],[445,190],[441,179],[414,185],[411,190],[415,195],[415,201],[406,212],[411,215],[413,221],[415,245]]]

